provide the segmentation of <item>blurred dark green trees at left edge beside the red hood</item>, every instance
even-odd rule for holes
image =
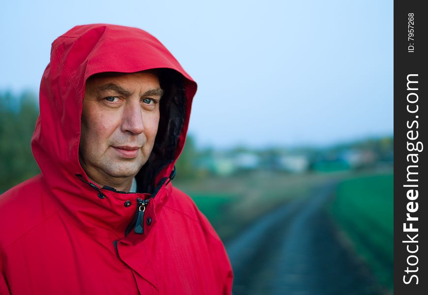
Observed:
[[[31,153],[36,102],[28,91],[0,93],[0,193],[40,172]]]

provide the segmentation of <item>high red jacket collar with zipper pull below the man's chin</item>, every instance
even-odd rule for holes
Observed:
[[[150,233],[170,195],[168,181],[159,183],[157,192],[152,195],[115,192],[95,184],[91,186],[81,182],[81,185],[70,183],[50,187],[50,192],[61,211],[70,216],[73,223],[90,235],[115,240],[128,236],[132,244],[141,242]],[[141,200],[146,201],[141,224],[143,232],[135,234],[135,222]],[[150,223],[147,220],[150,220]]]

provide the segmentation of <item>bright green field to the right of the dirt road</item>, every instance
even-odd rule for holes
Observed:
[[[378,282],[392,290],[394,174],[342,181],[329,207],[333,219]]]

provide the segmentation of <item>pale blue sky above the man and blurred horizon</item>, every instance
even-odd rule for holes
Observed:
[[[38,92],[52,41],[112,23],[156,36],[198,83],[199,146],[393,134],[393,1],[4,1],[0,91]]]

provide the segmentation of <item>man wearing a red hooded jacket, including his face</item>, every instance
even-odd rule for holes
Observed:
[[[230,294],[218,236],[173,187],[196,84],[147,32],[52,44],[32,138],[41,174],[0,197],[0,294]]]

